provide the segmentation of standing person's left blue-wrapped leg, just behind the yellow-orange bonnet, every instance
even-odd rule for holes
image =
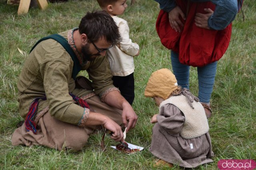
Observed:
[[[180,63],[179,54],[171,51],[172,70],[178,85],[189,89],[189,69],[190,66]]]

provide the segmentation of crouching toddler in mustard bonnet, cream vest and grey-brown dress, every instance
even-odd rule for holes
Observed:
[[[198,98],[178,86],[166,68],[153,72],[145,96],[154,98],[159,114],[152,117],[150,152],[158,158],[186,168],[213,162],[209,125]]]

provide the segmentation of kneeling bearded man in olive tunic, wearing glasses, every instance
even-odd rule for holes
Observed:
[[[120,39],[112,17],[100,11],[88,12],[77,28],[38,41],[18,80],[25,123],[15,130],[12,145],[80,150],[102,127],[122,141],[121,126],[134,128],[137,115],[112,84],[104,57]],[[77,77],[80,70],[86,70],[91,81]]]

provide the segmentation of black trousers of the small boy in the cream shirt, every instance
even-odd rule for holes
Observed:
[[[122,96],[132,105],[134,100],[134,75],[133,73],[128,76],[113,76],[114,86],[116,86]]]

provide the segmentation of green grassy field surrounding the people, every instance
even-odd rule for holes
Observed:
[[[171,69],[170,51],[162,46],[156,34],[159,8],[153,0],[137,0],[120,16],[128,21],[130,37],[141,49],[140,55],[135,57],[134,72],[133,107],[138,123],[127,134],[126,141],[145,149],[136,154],[123,154],[110,148],[117,143],[107,137],[107,148],[103,152],[100,149],[102,132],[92,135],[80,152],[60,152],[41,146],[12,147],[12,133],[21,120],[16,84],[31,47],[41,37],[77,27],[87,11],[98,8],[96,0],[69,0],[49,4],[44,11],[31,8],[28,14],[18,16],[18,6],[0,0],[0,169],[166,169],[153,166],[156,157],[149,152],[153,127],[150,117],[158,108],[151,99],[144,97],[150,74],[160,68]],[[233,22],[232,39],[218,62],[212,93],[214,113],[209,125],[214,162],[195,168],[198,170],[218,169],[220,159],[256,160],[255,0],[246,0],[243,11],[245,21],[239,13]],[[198,93],[196,68],[191,68],[190,90]],[[174,169],[183,168],[176,166]]]

